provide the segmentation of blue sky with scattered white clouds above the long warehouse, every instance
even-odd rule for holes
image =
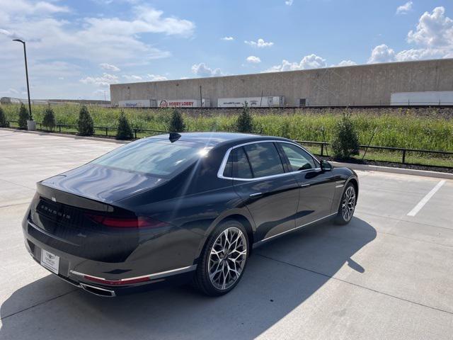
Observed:
[[[2,0],[0,96],[109,98],[109,84],[453,57],[451,1]]]

